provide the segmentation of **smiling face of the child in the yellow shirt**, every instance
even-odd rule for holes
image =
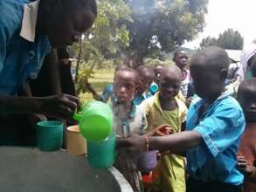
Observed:
[[[162,72],[162,77],[159,82],[159,94],[163,99],[173,99],[179,93],[181,83],[181,77],[178,77],[178,75]]]

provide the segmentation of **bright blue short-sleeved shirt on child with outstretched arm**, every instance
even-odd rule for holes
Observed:
[[[198,117],[204,102],[205,99],[193,102],[187,117],[186,130],[195,130],[204,139],[187,153],[187,171],[199,181],[240,185],[244,176],[236,167],[246,123],[243,111],[236,99],[223,95]]]

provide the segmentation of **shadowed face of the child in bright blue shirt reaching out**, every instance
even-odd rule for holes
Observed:
[[[190,73],[199,97],[211,99],[224,91],[225,78],[222,72],[207,68],[205,65],[190,65]]]

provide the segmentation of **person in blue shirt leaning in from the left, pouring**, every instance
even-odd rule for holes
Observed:
[[[97,15],[94,0],[0,0],[0,115],[73,115],[79,99],[71,95],[18,97],[26,79],[36,79],[51,48],[78,42]],[[1,127],[2,128],[2,127]],[[1,144],[1,143],[0,143]]]

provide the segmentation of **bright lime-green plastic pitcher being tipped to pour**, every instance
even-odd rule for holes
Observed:
[[[86,140],[103,141],[112,132],[113,114],[106,103],[87,102],[73,119],[79,121],[80,133]]]

